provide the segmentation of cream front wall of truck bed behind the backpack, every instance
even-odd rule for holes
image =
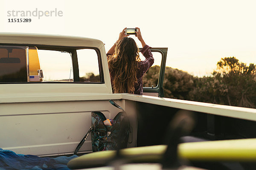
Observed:
[[[136,146],[137,121],[132,102],[114,100],[125,108],[133,126],[128,147]],[[67,102],[25,102],[0,104],[0,148],[38,156],[73,153],[89,130],[91,111],[113,119],[121,110],[108,100]],[[91,138],[80,151],[91,152]]]

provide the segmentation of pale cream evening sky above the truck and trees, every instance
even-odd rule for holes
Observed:
[[[223,57],[256,64],[255,0],[1,0],[0,32],[90,37],[106,51],[123,28],[139,27],[146,44],[167,47],[166,66],[194,76],[209,75]],[[57,11],[18,17],[8,11]],[[56,9],[55,9],[56,8]],[[20,14],[20,13],[18,13]],[[47,13],[47,15],[49,15]],[[134,35],[139,47],[140,42]]]

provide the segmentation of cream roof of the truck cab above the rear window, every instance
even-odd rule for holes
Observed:
[[[0,33],[0,44],[55,45],[96,48],[102,48],[104,45],[102,41],[93,38],[27,33]]]

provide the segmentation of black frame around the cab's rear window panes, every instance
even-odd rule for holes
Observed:
[[[14,46],[28,46],[28,47],[37,47],[38,50],[52,50],[52,51],[66,51],[71,53],[72,66],[73,66],[73,82],[0,82],[0,84],[41,84],[41,83],[68,83],[68,84],[105,84],[104,72],[102,66],[102,57],[99,48],[96,47],[84,47],[84,46],[61,46],[61,45],[38,45],[38,44],[3,44],[0,45],[14,45]],[[99,77],[100,82],[79,82],[79,66],[76,50],[79,49],[93,49],[96,51],[98,56],[98,64],[99,64]]]

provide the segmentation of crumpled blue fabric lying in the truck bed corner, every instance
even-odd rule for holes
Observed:
[[[78,156],[41,158],[34,155],[16,154],[0,148],[0,170],[70,170],[67,163]]]

